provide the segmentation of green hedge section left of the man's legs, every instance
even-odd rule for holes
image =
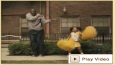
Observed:
[[[28,55],[30,54],[30,45],[28,43],[11,43],[8,46],[10,55]]]

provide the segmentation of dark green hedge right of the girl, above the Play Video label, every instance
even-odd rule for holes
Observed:
[[[80,41],[80,44],[84,54],[112,54],[112,44],[109,43],[99,45],[97,43]],[[74,49],[72,53],[79,54],[78,49]]]

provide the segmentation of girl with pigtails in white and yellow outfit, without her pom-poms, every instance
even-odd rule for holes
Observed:
[[[81,45],[79,44],[79,37],[81,35],[81,28],[79,27],[73,27],[70,28],[71,34],[68,37],[68,40],[74,41],[75,43],[75,47],[77,47],[77,49],[79,50],[79,52],[81,54],[83,54],[82,50],[81,50]],[[71,51],[69,51],[69,54],[71,54]]]

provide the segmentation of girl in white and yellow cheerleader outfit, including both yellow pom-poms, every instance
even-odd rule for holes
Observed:
[[[97,31],[93,26],[87,26],[85,30],[81,33],[81,28],[74,27],[70,29],[71,33],[67,40],[60,40],[57,42],[57,46],[64,51],[68,51],[71,54],[71,51],[76,47],[81,54],[83,54],[79,39],[89,40],[93,39],[97,35]],[[81,38],[80,38],[81,37]]]

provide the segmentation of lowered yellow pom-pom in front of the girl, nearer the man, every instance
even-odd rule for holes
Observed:
[[[72,51],[75,49],[74,41],[71,40],[58,41],[57,46],[65,51]]]

